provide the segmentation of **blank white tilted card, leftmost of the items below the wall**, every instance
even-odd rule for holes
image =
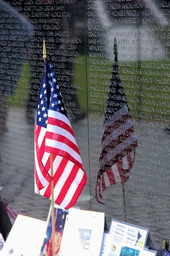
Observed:
[[[46,229],[46,221],[18,215],[0,255],[38,256]]]

